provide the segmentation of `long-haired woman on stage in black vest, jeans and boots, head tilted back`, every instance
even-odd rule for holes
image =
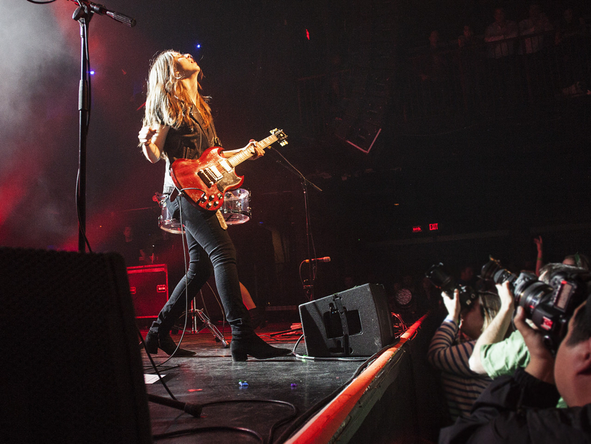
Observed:
[[[201,69],[190,54],[165,51],[159,54],[150,67],[148,93],[143,127],[138,139],[146,158],[152,162],[166,160],[164,194],[170,196],[175,185],[170,177],[170,165],[177,159],[198,159],[203,151],[221,146],[217,138],[212,114],[207,102],[199,93]],[[263,148],[249,144],[254,150],[252,159],[263,155]],[[232,157],[238,151],[222,151],[224,157]],[[194,355],[194,352],[177,349],[170,337],[170,329],[186,308],[185,295],[196,294],[211,274],[224,307],[227,322],[232,327],[230,350],[234,361],[245,361],[247,355],[267,359],[290,353],[285,348],[275,348],[254,333],[247,309],[241,299],[236,250],[227,234],[225,221],[219,211],[205,210],[192,205],[182,195],[166,199],[175,219],[185,225],[189,251],[186,275],[172,291],[168,302],[161,309],[157,320],[146,335],[148,353],[158,348],[175,356]],[[209,259],[199,258],[205,251]],[[210,264],[211,263],[211,264]]]

